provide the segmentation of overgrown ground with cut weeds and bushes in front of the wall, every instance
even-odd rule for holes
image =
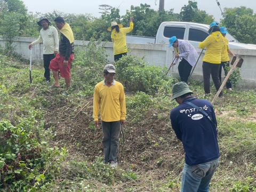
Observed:
[[[63,97],[62,88],[47,87],[41,66],[34,66],[29,84],[27,63],[1,55],[0,191],[179,191],[183,148],[169,119],[177,79],[131,56],[115,63],[116,79],[125,86],[127,124],[113,170],[102,163],[102,131],[92,118],[93,89],[106,64],[107,55],[94,43],[77,49],[72,94]],[[190,88],[203,97],[202,83]],[[255,95],[227,92],[214,106],[221,163],[211,191],[256,191]]]

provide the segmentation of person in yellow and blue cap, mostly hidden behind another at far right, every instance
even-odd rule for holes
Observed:
[[[228,39],[226,37],[226,35],[228,34],[227,28],[226,27],[220,27],[220,33],[222,34],[222,36],[224,37],[224,40],[225,40],[225,44],[224,44],[224,46],[222,48],[222,51],[221,51],[221,64],[220,64],[220,69],[219,69],[219,78],[220,78],[220,83],[221,83],[222,67],[224,69],[225,75],[228,74],[228,69],[226,68],[226,66],[229,67],[229,60],[230,59],[228,57],[228,54],[232,55],[232,57],[234,57],[235,54],[229,50]],[[226,87],[227,87],[227,90],[232,91],[232,84],[231,84],[229,79],[226,83]]]

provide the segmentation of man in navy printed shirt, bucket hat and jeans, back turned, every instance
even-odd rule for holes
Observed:
[[[172,99],[179,103],[171,111],[172,129],[185,150],[181,192],[209,191],[220,157],[213,106],[207,100],[192,97],[185,82],[173,85],[172,93]]]

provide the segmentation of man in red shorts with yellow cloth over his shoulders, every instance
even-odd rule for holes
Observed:
[[[73,31],[65,22],[62,17],[57,17],[54,19],[56,26],[60,30],[60,44],[59,44],[59,54],[51,61],[50,69],[52,70],[54,77],[54,84],[52,88],[60,87],[58,70],[60,70],[60,76],[65,78],[67,91],[71,85],[71,74],[70,68],[71,63],[74,59],[74,35]],[[63,92],[63,95],[67,96],[68,92]]]

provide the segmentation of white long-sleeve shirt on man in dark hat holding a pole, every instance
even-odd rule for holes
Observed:
[[[40,35],[32,45],[43,43],[43,54],[53,54],[54,51],[59,51],[59,35],[55,27],[49,26],[48,29],[40,30]]]

